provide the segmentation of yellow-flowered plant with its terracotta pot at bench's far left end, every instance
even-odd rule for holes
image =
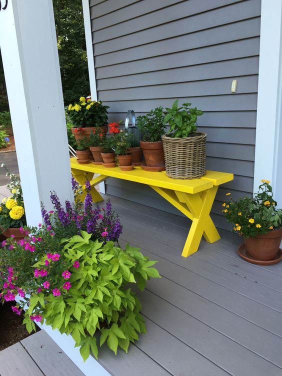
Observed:
[[[107,108],[101,101],[85,99],[80,96],[74,104],[69,104],[68,115],[74,127],[71,129],[75,139],[89,137],[96,127],[107,132]]]

